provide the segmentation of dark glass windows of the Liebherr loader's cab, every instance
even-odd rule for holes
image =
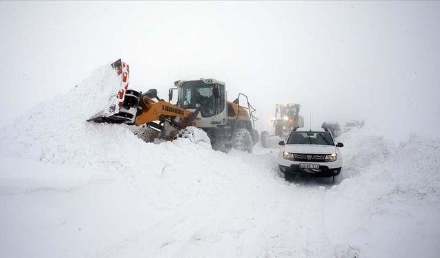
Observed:
[[[201,80],[193,80],[183,83],[179,87],[179,98],[177,105],[184,109],[195,109],[196,104],[200,104],[200,114],[202,117],[215,115],[216,105],[219,112],[223,111],[225,105],[225,86],[218,85],[220,98],[217,103],[214,98],[215,85],[207,85]]]

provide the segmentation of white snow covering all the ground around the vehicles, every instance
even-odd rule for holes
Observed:
[[[109,75],[0,129],[0,257],[439,257],[440,139],[397,145],[365,127],[338,138],[340,184],[285,182],[278,149],[85,122]]]

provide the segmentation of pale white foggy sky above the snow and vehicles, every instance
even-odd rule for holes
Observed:
[[[122,58],[131,88],[166,99],[175,80],[224,81],[259,131],[276,103],[401,140],[440,127],[438,1],[0,2],[0,22],[2,126]]]

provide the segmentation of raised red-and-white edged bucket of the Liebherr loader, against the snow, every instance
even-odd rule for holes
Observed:
[[[111,64],[111,67],[120,75],[120,87],[109,98],[109,105],[87,121],[109,122],[131,125],[135,122],[137,107],[139,105],[140,92],[129,88],[129,65],[121,59]]]

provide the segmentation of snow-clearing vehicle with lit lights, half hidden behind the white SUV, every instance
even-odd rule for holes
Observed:
[[[304,118],[299,115],[299,104],[277,104],[272,122],[272,134],[268,131],[261,132],[261,146],[264,148],[278,147],[278,142],[285,140],[295,127],[304,127]]]

